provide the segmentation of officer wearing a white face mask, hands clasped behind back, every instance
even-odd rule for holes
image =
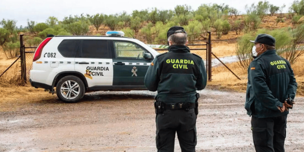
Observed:
[[[284,152],[286,119],[297,83],[288,60],[276,54],[275,38],[260,34],[250,42],[257,57],[248,68],[245,109],[252,116],[254,147],[257,152]]]

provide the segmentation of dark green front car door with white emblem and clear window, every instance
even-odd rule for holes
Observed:
[[[113,89],[143,90],[144,78],[153,59],[144,59],[149,53],[140,45],[130,41],[113,41]]]

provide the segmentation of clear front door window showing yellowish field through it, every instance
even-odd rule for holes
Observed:
[[[114,41],[116,58],[119,59],[143,59],[143,54],[147,53],[139,45],[131,42]]]

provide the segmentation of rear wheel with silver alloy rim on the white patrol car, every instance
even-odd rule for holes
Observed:
[[[56,94],[64,102],[78,102],[85,94],[85,85],[76,76],[65,76],[58,81]]]

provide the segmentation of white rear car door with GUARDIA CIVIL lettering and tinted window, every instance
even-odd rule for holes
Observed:
[[[86,78],[90,90],[111,90],[113,82],[112,53],[108,40],[83,39],[76,57],[75,71]]]

